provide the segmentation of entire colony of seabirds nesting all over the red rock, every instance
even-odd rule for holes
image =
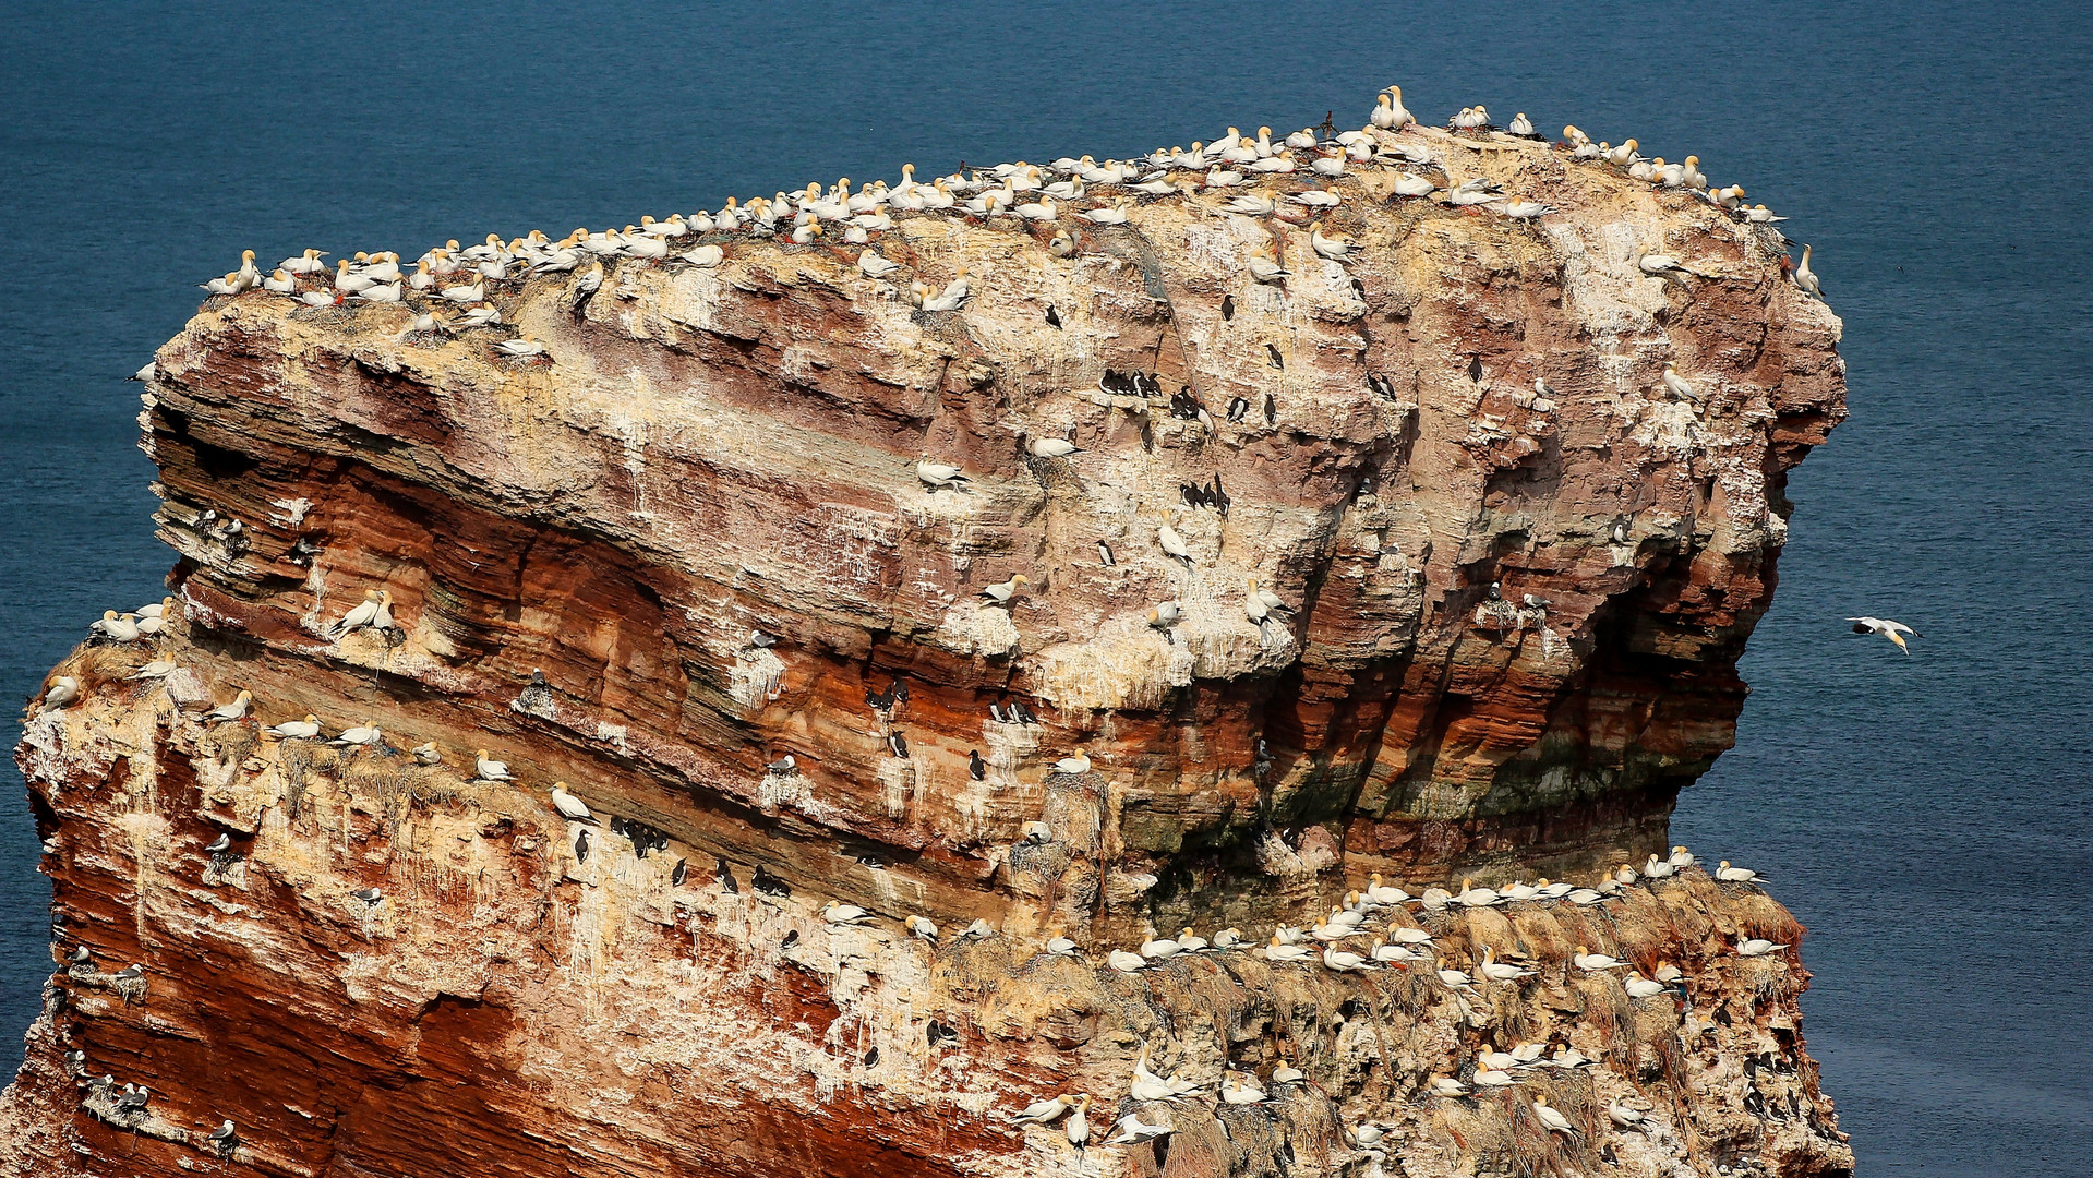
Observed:
[[[718,268],[730,253],[753,241],[791,243],[802,247],[833,247],[835,243],[856,247],[858,272],[892,287],[892,295],[906,299],[925,314],[965,312],[973,289],[965,272],[944,285],[917,280],[908,268],[881,253],[881,234],[892,230],[900,218],[948,216],[971,218],[977,224],[1009,224],[1021,232],[1049,239],[1049,249],[1057,257],[1067,257],[1080,249],[1080,241],[1070,232],[1067,222],[1088,226],[1126,224],[1128,209],[1153,201],[1218,201],[1216,213],[1241,216],[1306,226],[1306,249],[1321,259],[1344,264],[1358,251],[1358,245],[1344,234],[1329,234],[1323,228],[1323,213],[1344,201],[1365,199],[1354,180],[1365,172],[1386,172],[1394,176],[1394,201],[1434,201],[1473,216],[1494,216],[1513,222],[1540,222],[1551,216],[1545,203],[1503,192],[1488,180],[1448,182],[1444,169],[1434,161],[1430,144],[1421,136],[1406,134],[1415,117],[1402,107],[1400,90],[1388,88],[1379,94],[1369,123],[1360,130],[1335,132],[1333,128],[1306,128],[1283,138],[1273,138],[1268,128],[1256,136],[1243,136],[1229,128],[1212,144],[1193,142],[1191,149],[1160,149],[1134,161],[1095,161],[1093,157],[1057,159],[1051,165],[1003,163],[965,176],[940,176],[931,182],[915,180],[913,167],[902,169],[898,184],[875,182],[852,188],[850,180],[823,188],[810,184],[800,192],[777,192],[749,201],[730,199],[718,211],[674,213],[666,220],[643,218],[638,226],[622,230],[576,230],[553,241],[532,230],[525,236],[502,241],[488,234],[483,243],[458,247],[456,241],[423,253],[412,266],[396,253],[356,253],[354,259],[327,264],[327,255],[308,249],[299,257],[285,259],[270,274],[253,264],[247,251],[239,270],[213,278],[205,289],[213,297],[253,299],[280,297],[295,299],[310,308],[337,308],[354,314],[358,305],[408,303],[417,318],[408,326],[408,337],[463,337],[465,333],[486,333],[490,352],[509,364],[553,364],[557,356],[527,335],[515,333],[496,305],[494,295],[515,291],[525,282],[563,282],[569,310],[580,314],[588,299],[601,293],[615,295],[622,280],[645,268]],[[1490,123],[1482,107],[1463,109],[1450,130],[1476,140],[1496,136],[1538,140],[1532,121],[1522,113],[1507,130]],[[1773,241],[1785,241],[1773,228],[1783,218],[1773,216],[1764,205],[1746,205],[1741,186],[1714,186],[1700,169],[1697,157],[1683,163],[1666,163],[1662,157],[1639,155],[1637,140],[1628,138],[1620,146],[1593,142],[1578,128],[1563,128],[1557,151],[1589,167],[1620,169],[1656,188],[1670,188],[1706,201],[1723,209],[1741,226],[1758,226]],[[1281,234],[1285,239],[1285,234]],[[1653,278],[1689,278],[1693,272],[1681,262],[1658,253],[1637,253],[1635,266]],[[1285,287],[1289,278],[1287,257],[1279,241],[1258,247],[1247,266],[1258,282]],[[1817,276],[1810,272],[1810,253],[1804,249],[1800,264],[1790,268],[1792,282],[1813,297],[1821,297]],[[1046,312],[1055,312],[1049,308]],[[1229,310],[1224,305],[1222,314]],[[1049,322],[1053,322],[1049,318]],[[1283,366],[1277,349],[1270,364]],[[151,366],[149,366],[151,368]],[[140,372],[151,379],[151,370]],[[1664,387],[1683,402],[1700,400],[1689,377],[1666,364]],[[1107,400],[1141,402],[1160,395],[1155,379],[1130,372],[1107,372],[1099,383],[1099,393]],[[1536,381],[1534,402],[1547,406],[1547,385]],[[1199,421],[1214,431],[1214,416],[1189,389],[1178,393],[1170,406],[1172,416]],[[1275,406],[1266,398],[1264,406],[1237,398],[1224,410],[1216,410],[1226,421],[1243,421],[1252,412],[1273,418]],[[1078,452],[1076,444],[1063,437],[1030,437],[1023,441],[1030,456],[1038,460],[1065,458]],[[915,477],[929,492],[961,490],[969,475],[961,465],[923,454],[915,467]],[[1212,506],[1222,515],[1229,496],[1218,475],[1212,485],[1185,485],[1183,498],[1191,506]],[[243,525],[237,519],[195,521],[195,531],[239,550]],[[1191,565],[1197,557],[1193,548],[1168,523],[1155,531],[1162,554],[1170,561]],[[1116,554],[1099,542],[1099,561],[1113,565]],[[988,607],[1009,607],[1028,590],[1026,575],[1011,575],[980,590]],[[1547,603],[1524,596],[1526,611],[1545,611]],[[90,628],[90,642],[107,647],[136,649],[155,644],[172,636],[182,626],[182,605],[176,598],[117,613],[109,611]],[[387,590],[373,590],[362,603],[345,611],[329,634],[335,640],[358,632],[379,634],[398,644],[400,624],[391,615],[393,598]],[[1157,630],[1170,632],[1176,617],[1176,603],[1157,605],[1149,621]],[[1233,607],[1231,607],[1233,609]],[[1501,603],[1496,586],[1490,590],[1490,605],[1520,615],[1520,607]],[[1243,615],[1260,628],[1281,621],[1289,613],[1289,603],[1279,594],[1252,582],[1243,601]],[[1894,638],[1894,634],[1892,634]],[[777,642],[774,636],[753,632],[745,644],[764,649]],[[178,661],[153,651],[153,659],[136,667],[130,678],[151,686],[178,672]],[[550,697],[555,684],[542,674],[523,688],[519,709],[536,707],[534,695]],[[890,713],[896,703],[906,703],[906,684],[896,680],[885,693],[867,693],[867,705],[877,713]],[[84,695],[77,678],[54,678],[38,711],[59,711],[75,705]],[[222,697],[222,695],[220,695]],[[584,864],[590,856],[634,856],[661,854],[663,866],[674,860],[670,887],[716,889],[718,893],[741,893],[743,883],[779,910],[789,910],[804,919],[808,929],[827,929],[829,935],[843,935],[846,929],[877,929],[885,935],[890,952],[954,952],[967,946],[1000,937],[990,921],[952,931],[940,929],[923,914],[904,914],[898,923],[864,906],[841,900],[795,896],[793,881],[781,879],[758,866],[751,875],[737,875],[737,866],[718,860],[712,868],[689,870],[689,858],[678,858],[672,839],[640,820],[609,816],[607,824],[590,808],[586,797],[576,795],[565,780],[544,780],[550,774],[534,774],[530,766],[509,764],[496,749],[442,749],[435,743],[421,743],[412,749],[398,749],[387,743],[387,734],[375,720],[335,724],[316,716],[278,716],[272,722],[264,716],[266,701],[255,701],[251,693],[239,690],[228,703],[216,703],[201,711],[205,726],[251,726],[257,737],[280,743],[324,743],[337,749],[339,757],[412,757],[414,764],[433,770],[460,766],[460,783],[481,787],[530,787],[532,795],[544,797],[553,822],[563,831],[565,858]],[[990,718],[998,724],[1042,726],[1040,718],[1021,701],[1009,699],[990,705]],[[885,734],[892,755],[906,760],[906,734],[887,726]],[[402,741],[404,743],[404,741]],[[770,755],[770,753],[766,753]],[[1090,757],[1076,749],[1065,755],[1042,757],[1051,776],[1080,783],[1093,774]],[[1262,764],[1262,741],[1260,741]],[[785,753],[766,766],[766,776],[789,780],[800,772],[797,760]],[[969,753],[969,772],[984,778],[984,762],[977,751]],[[532,778],[538,780],[532,780]],[[609,837],[605,837],[605,831]],[[1055,831],[1044,822],[1023,826],[1023,843],[1049,845]],[[230,837],[220,837],[207,847],[213,873],[237,868],[239,849]],[[1143,988],[1168,979],[1172,986],[1220,986],[1233,990],[1256,990],[1258,979],[1281,977],[1285,971],[1312,973],[1354,988],[1358,1009],[1346,1004],[1340,1023],[1350,1023],[1356,1034],[1388,1034],[1388,1021],[1404,1013],[1421,1017],[1425,1011],[1450,1009],[1453,1017],[1469,1027],[1471,1038],[1459,1050],[1427,1061],[1430,1080],[1409,1092],[1415,1109],[1442,1109],[1442,1119],[1459,1124],[1482,1124],[1496,1117],[1490,1132],[1540,1134],[1576,1138],[1584,1149],[1603,1161],[1618,1161],[1624,1153],[1641,1151],[1676,1157],[1681,1155],[1672,1134],[1672,1117],[1639,1094],[1633,1069],[1614,1067],[1620,1055],[1614,1050],[1622,1036],[1622,1025],[1658,1021],[1676,1042],[1693,1044],[1702,1034],[1710,1034],[1714,1023],[1733,1017],[1718,996],[1731,986],[1739,971],[1752,973],[1750,986],[1771,992],[1785,986],[1794,958],[1792,946],[1779,939],[1735,931],[1725,942],[1720,958],[1668,960],[1637,956],[1614,956],[1601,935],[1618,908],[1676,908],[1706,914],[1704,898],[1712,893],[1743,896],[1756,893],[1764,883],[1748,868],[1731,866],[1727,860],[1706,868],[1685,847],[1674,847],[1670,856],[1647,856],[1641,864],[1614,864],[1582,883],[1534,879],[1515,881],[1492,889],[1476,887],[1471,881],[1446,881],[1442,887],[1423,887],[1411,893],[1404,887],[1386,883],[1379,875],[1360,881],[1344,904],[1323,912],[1304,914],[1298,923],[1275,929],[1245,933],[1237,927],[1214,929],[1199,935],[1183,929],[1176,935],[1162,935],[1153,927],[1139,942],[1128,944],[1078,944],[1070,937],[1046,937],[1036,946],[1026,946],[1021,956],[1040,967],[1074,962],[1090,969],[1105,988]],[[387,904],[381,889],[356,891],[352,900],[368,910]],[[818,916],[818,921],[816,921]],[[1547,937],[1524,935],[1530,927],[1545,923]],[[1513,935],[1517,929],[1520,935]],[[1570,929],[1576,929],[1570,933]],[[814,933],[820,935],[820,933]],[[1566,935],[1586,935],[1589,942],[1563,942]],[[793,929],[785,948],[800,944],[802,931]],[[917,948],[921,944],[921,948]],[[1522,946],[1547,944],[1563,952],[1522,952]],[[1593,948],[1597,946],[1597,948]],[[1618,950],[1626,952],[1626,950]],[[1243,962],[1258,962],[1258,969],[1243,969]],[[1030,969],[1030,967],[1028,967]],[[132,965],[130,971],[103,973],[86,950],[67,958],[67,971],[75,979],[107,986],[123,994],[128,1002],[144,1000],[147,971]],[[1589,1000],[1563,1004],[1545,1000],[1549,994],[1584,994]],[[1545,1006],[1545,1011],[1543,1011]],[[938,1046],[938,1027],[931,1023],[931,1046]],[[1329,1032],[1319,1029],[1316,1036]],[[944,1027],[946,1036],[957,1032]],[[1337,1032],[1342,1034],[1342,1032]],[[1300,1036],[1302,1040],[1310,1036]],[[1670,1042],[1670,1040],[1668,1040]],[[1794,1071],[1794,1040],[1773,1040],[1764,1044],[1762,1057],[1754,1057],[1754,1067],[1769,1073]],[[1160,1073],[1157,1059],[1174,1061]],[[1241,1063],[1260,1059],[1258,1063]],[[86,1107],[111,1124],[138,1126],[147,1115],[151,1092],[134,1084],[117,1084],[115,1075],[92,1075],[90,1063],[69,1059],[75,1075],[88,1090]],[[1676,1061],[1672,1063],[1676,1067]],[[1095,1086],[1093,1086],[1095,1088]],[[1758,1088],[1754,1088],[1756,1092]],[[1769,1084],[1769,1092],[1775,1090]],[[1779,1105],[1779,1094],[1787,1107]],[[1794,1090],[1777,1096],[1760,1096],[1756,1115],[1790,1119],[1804,1115]],[[1040,1101],[1023,1109],[1009,1109],[1009,1124],[1028,1132],[1040,1151],[1072,1157],[1078,1168],[1093,1147],[1149,1147],[1160,1161],[1170,1149],[1170,1138],[1178,1134],[1220,1132],[1226,1140],[1247,1140],[1258,1130],[1247,1117],[1260,1115],[1289,1103],[1310,1103],[1327,1111],[1333,1134],[1323,1142],[1327,1159],[1358,1159],[1379,1168],[1390,1157],[1409,1149],[1400,1117],[1348,1115],[1346,1088],[1337,1073],[1327,1067],[1319,1073],[1310,1067],[1296,1067],[1287,1055],[1256,1050],[1243,1055],[1222,1036],[1212,1042],[1191,1042],[1174,1038],[1168,1029],[1143,1040],[1139,1061],[1124,1088],[1046,1092]],[[1109,1109],[1109,1115],[1103,1113]],[[1093,1117],[1101,1124],[1093,1134]],[[1247,1134],[1247,1136],[1245,1136]],[[1488,1134],[1486,1134],[1488,1136]],[[209,1134],[207,1145],[224,1157],[237,1157],[239,1132],[232,1122],[224,1122]],[[1626,1142],[1635,1140],[1630,1149]],[[1281,1168],[1302,1161],[1291,1138],[1275,1140]],[[1746,1165],[1748,1168],[1748,1165]],[[1392,1168],[1390,1172],[1400,1172]]]

